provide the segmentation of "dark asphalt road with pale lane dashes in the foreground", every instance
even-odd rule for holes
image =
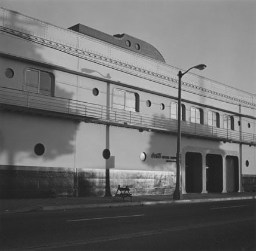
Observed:
[[[256,250],[255,200],[0,215],[1,250]]]

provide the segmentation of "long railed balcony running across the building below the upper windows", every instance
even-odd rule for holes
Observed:
[[[12,111],[70,118],[86,123],[110,124],[174,134],[177,131],[177,121],[170,118],[5,87],[0,87],[0,107]],[[181,133],[190,137],[256,145],[256,134],[209,127],[187,121],[181,121]]]

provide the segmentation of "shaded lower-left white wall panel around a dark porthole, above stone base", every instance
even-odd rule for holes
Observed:
[[[0,118],[0,164],[74,168],[74,121],[7,111]],[[41,156],[34,152],[37,143],[45,147]]]

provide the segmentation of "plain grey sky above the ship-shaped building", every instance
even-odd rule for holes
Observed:
[[[0,0],[0,6],[60,27],[77,23],[127,33],[166,63],[256,94],[256,0]]]

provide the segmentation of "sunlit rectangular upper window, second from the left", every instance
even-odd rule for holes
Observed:
[[[131,91],[114,89],[113,108],[139,112],[139,95]]]

